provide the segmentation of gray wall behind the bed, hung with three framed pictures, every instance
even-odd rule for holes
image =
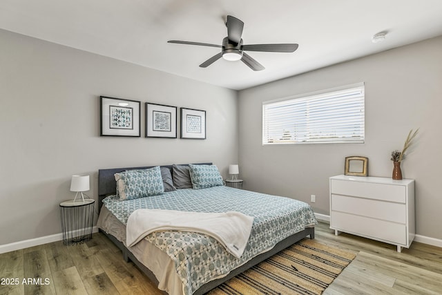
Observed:
[[[101,168],[238,161],[236,91],[5,30],[0,48],[0,245],[60,233],[73,174],[97,200]],[[141,101],[142,137],[99,137],[99,95]],[[144,102],[205,110],[207,139],[145,138]]]

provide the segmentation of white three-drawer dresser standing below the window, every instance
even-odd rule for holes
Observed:
[[[330,178],[330,228],[410,247],[415,234],[414,180],[338,175]]]

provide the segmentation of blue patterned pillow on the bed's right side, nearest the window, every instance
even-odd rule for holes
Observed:
[[[205,189],[222,185],[222,177],[215,165],[189,164],[193,189]]]

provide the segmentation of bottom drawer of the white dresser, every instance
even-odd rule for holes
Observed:
[[[330,227],[349,234],[407,245],[407,227],[394,222],[357,216],[343,212],[333,212]]]

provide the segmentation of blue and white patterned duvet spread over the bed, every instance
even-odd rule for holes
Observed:
[[[160,231],[146,236],[166,252],[177,268],[185,294],[193,294],[204,283],[226,275],[248,260],[270,249],[277,242],[316,224],[309,204],[231,187],[178,189],[159,196],[119,201],[116,196],[103,200],[106,208],[126,225],[136,209],[167,209],[193,212],[239,211],[253,216],[251,236],[238,259],[209,236],[184,231]]]

